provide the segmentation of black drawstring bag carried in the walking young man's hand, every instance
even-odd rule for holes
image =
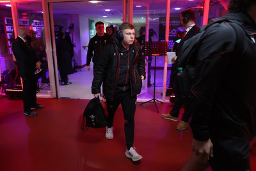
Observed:
[[[107,125],[107,119],[104,112],[104,108],[100,103],[100,98],[93,98],[89,101],[88,105],[84,109],[83,122],[81,130],[87,131],[92,128],[103,128]]]

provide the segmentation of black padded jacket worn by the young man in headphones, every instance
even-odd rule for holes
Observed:
[[[145,58],[135,43],[127,50],[121,45],[121,41],[113,39],[115,41],[106,45],[99,57],[98,70],[92,82],[92,93],[100,93],[100,85],[104,82],[103,93],[111,100],[115,92],[131,90],[131,96],[140,94],[141,75],[146,78]]]

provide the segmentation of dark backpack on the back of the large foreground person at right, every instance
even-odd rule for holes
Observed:
[[[173,82],[173,89],[175,93],[182,96],[182,98],[189,98],[191,84],[193,84],[193,78],[195,78],[195,68],[196,68],[196,58],[198,56],[198,47],[200,47],[201,38],[205,34],[205,30],[216,23],[228,22],[230,26],[236,31],[237,42],[241,42],[242,37],[241,30],[243,27],[236,20],[228,20],[225,17],[214,20],[211,24],[202,27],[200,33],[196,34],[189,40],[186,40],[182,45],[180,54],[177,57],[175,62],[175,71],[177,72],[178,68],[182,68],[182,72],[175,73],[175,79]],[[243,33],[243,32],[242,32]]]

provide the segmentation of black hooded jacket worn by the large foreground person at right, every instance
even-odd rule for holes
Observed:
[[[256,128],[256,33],[242,12],[225,16],[241,24],[239,34],[227,22],[213,24],[202,36],[195,70],[191,128],[195,140],[214,136],[249,140]]]

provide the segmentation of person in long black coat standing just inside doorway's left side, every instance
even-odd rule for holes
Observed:
[[[68,45],[63,32],[60,32],[56,38],[56,52],[58,68],[60,70],[61,85],[72,84],[72,82],[68,82],[68,75],[74,73],[72,58],[70,58],[70,54],[73,53],[73,47]]]

